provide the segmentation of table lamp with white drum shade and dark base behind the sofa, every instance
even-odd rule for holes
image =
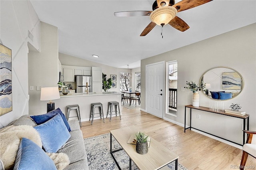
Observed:
[[[47,113],[55,109],[54,102],[52,100],[60,99],[60,93],[58,87],[42,87],[40,101],[50,100],[47,103]]]

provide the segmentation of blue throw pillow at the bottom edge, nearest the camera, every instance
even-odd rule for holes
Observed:
[[[22,138],[14,170],[56,170],[53,160],[32,140]]]

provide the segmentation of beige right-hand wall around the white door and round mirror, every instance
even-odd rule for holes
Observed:
[[[202,74],[210,68],[226,66],[235,69],[242,75],[244,89],[234,99],[224,101],[225,108],[228,108],[232,103],[240,104],[242,110],[250,115],[249,129],[256,130],[255,30],[256,24],[251,24],[201,42],[143,59],[141,61],[142,77],[146,75],[147,64],[158,61],[178,61],[177,117],[165,114],[165,118],[184,124],[184,105],[192,104],[192,93],[186,89],[185,91],[180,91],[180,88],[186,85],[186,81],[199,82]],[[141,86],[141,108],[145,109],[145,78],[142,78]],[[202,92],[199,92],[199,94],[200,106],[209,107],[210,99],[203,95]],[[242,119],[194,110],[192,113],[193,127],[242,143]],[[196,113],[201,115],[201,119],[196,119]]]

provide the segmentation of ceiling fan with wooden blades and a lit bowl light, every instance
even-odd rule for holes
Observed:
[[[140,36],[146,36],[156,25],[164,26],[170,24],[177,30],[184,32],[189,26],[176,16],[177,12],[200,6],[212,0],[182,0],[175,4],[174,0],[156,0],[153,11],[123,11],[114,12],[114,16],[150,16],[150,24],[142,31]]]

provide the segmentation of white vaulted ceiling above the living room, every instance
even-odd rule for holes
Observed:
[[[180,0],[176,0],[176,3]],[[178,12],[190,28],[156,26],[140,37],[149,16],[115,17],[114,12],[152,10],[154,0],[31,0],[39,19],[58,27],[59,52],[117,68],[256,22],[255,0],[213,0]],[[99,55],[99,58],[92,57]],[[178,59],[178,58],[177,58]]]

